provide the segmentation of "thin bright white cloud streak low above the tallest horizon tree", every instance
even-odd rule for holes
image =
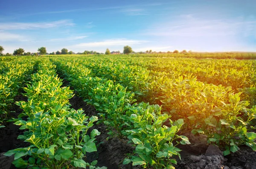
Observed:
[[[90,43],[79,43],[70,47],[108,47],[108,46],[123,46],[123,45],[136,45],[148,42],[146,40],[128,40],[122,39],[109,39],[100,42],[90,42]]]

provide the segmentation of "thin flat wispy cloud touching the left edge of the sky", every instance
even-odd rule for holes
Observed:
[[[0,23],[0,30],[17,30],[17,29],[45,29],[60,26],[74,26],[71,20],[57,20],[53,22],[34,22],[34,23]]]

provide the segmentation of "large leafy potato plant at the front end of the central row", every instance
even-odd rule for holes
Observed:
[[[178,144],[190,144],[189,139],[177,132],[184,124],[183,119],[175,122],[169,115],[161,114],[158,105],[140,103],[130,106],[130,121],[133,129],[126,130],[128,138],[136,144],[135,155],[126,158],[123,164],[132,162],[133,166],[142,165],[143,168],[175,169],[172,164],[177,164],[173,156],[180,159]]]

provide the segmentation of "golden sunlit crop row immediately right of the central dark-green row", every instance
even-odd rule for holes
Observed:
[[[172,115],[172,120],[183,118],[186,130],[194,134],[205,134],[209,143],[225,147],[224,155],[236,152],[238,146],[244,144],[256,149],[256,134],[250,132],[255,126],[256,108],[253,105],[250,108],[248,101],[241,100],[241,92],[234,93],[230,86],[215,86],[193,77],[148,77],[145,69],[122,63],[109,66],[108,62],[97,64],[92,60],[81,59],[73,63],[66,60],[65,63],[75,69],[72,74],[78,78],[90,74],[92,77],[101,77],[103,82],[111,80],[113,85],[127,87],[128,91],[140,96],[135,98],[162,105],[163,112]],[[86,84],[80,84],[80,93],[87,92],[87,89],[83,89]],[[90,97],[93,95],[96,94],[91,93]],[[133,101],[129,100],[130,103]]]

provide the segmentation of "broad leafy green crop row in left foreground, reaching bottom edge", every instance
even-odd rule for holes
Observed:
[[[31,75],[31,84],[24,88],[28,101],[17,102],[23,109],[15,125],[25,130],[18,139],[30,145],[9,150],[4,155],[14,155],[17,168],[64,169],[73,167],[105,169],[95,167],[97,161],[87,163],[83,159],[87,152],[95,152],[96,129],[87,134],[98,118],[87,117],[83,110],[70,109],[69,99],[73,91],[61,87],[61,79],[49,60],[38,63],[38,72]],[[24,120],[26,119],[26,120]]]

